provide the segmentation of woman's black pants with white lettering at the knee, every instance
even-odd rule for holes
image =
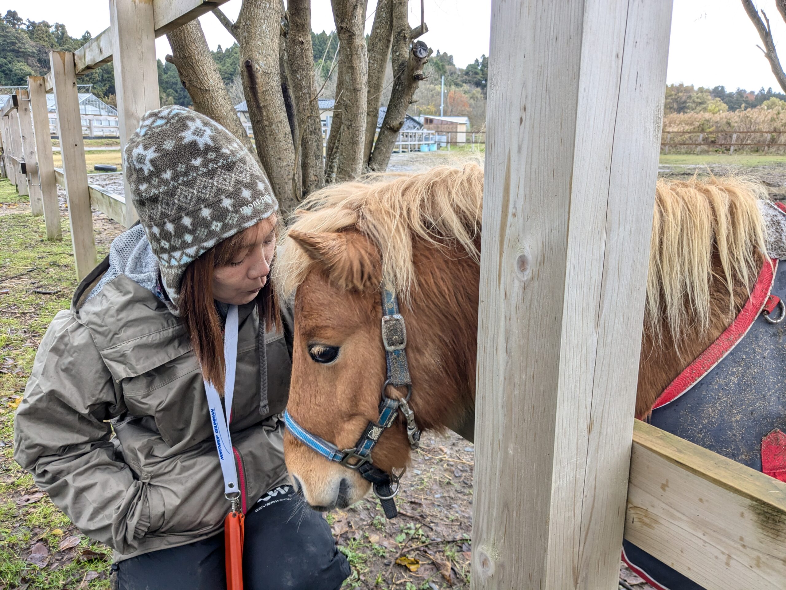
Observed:
[[[224,533],[112,566],[118,590],[224,590]],[[337,590],[349,576],[328,523],[281,485],[245,518],[244,590]]]

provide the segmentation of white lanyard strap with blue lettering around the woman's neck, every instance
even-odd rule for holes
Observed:
[[[226,379],[224,381],[226,415],[224,408],[221,406],[219,392],[207,380],[204,380],[204,393],[208,396],[215,448],[219,452],[221,472],[224,476],[224,494],[227,496],[232,494],[234,496],[241,491],[237,485],[237,466],[235,465],[232,437],[230,436],[232,398],[235,389],[235,366],[237,364],[237,305],[230,305],[229,312],[226,313],[224,363],[226,365]]]

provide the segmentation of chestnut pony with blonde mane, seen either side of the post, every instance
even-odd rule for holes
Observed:
[[[743,177],[659,179],[642,326],[636,415],[732,323],[766,258],[759,183]],[[483,170],[438,167],[328,186],[293,213],[274,285],[294,306],[288,412],[309,433],[353,448],[380,417],[386,354],[381,289],[399,297],[421,430],[472,440]],[[406,395],[389,388],[389,396]],[[357,470],[285,433],[296,489],[319,510],[369,492]],[[373,464],[410,457],[404,420],[384,429]]]

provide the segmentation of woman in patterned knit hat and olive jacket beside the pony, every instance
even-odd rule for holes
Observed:
[[[14,457],[114,548],[121,590],[226,588],[223,523],[241,511],[247,590],[339,588],[347,560],[287,484],[291,330],[268,282],[267,179],[226,129],[178,106],[145,115],[125,160],[141,225],[46,331]]]

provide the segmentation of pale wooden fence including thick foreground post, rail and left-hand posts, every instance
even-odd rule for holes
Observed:
[[[77,76],[114,59],[122,146],[158,106],[155,37],[222,4],[109,2],[108,30],[51,52],[0,109],[0,169],[50,239],[65,188],[79,278],[96,264],[91,206],[126,227],[136,213],[90,185]],[[615,588],[623,535],[709,590],[786,588],[786,484],[630,418],[670,14],[670,0],[492,4],[477,590]]]

